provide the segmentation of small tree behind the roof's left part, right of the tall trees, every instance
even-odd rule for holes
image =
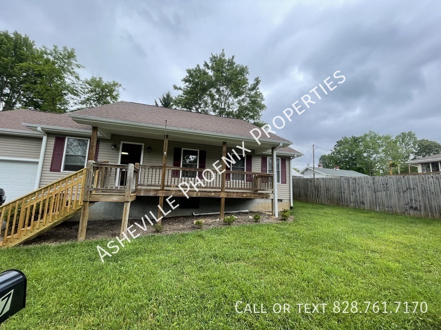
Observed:
[[[78,105],[80,109],[84,109],[117,102],[120,99],[120,88],[122,87],[115,80],[105,81],[100,76],[84,79],[80,86]]]

